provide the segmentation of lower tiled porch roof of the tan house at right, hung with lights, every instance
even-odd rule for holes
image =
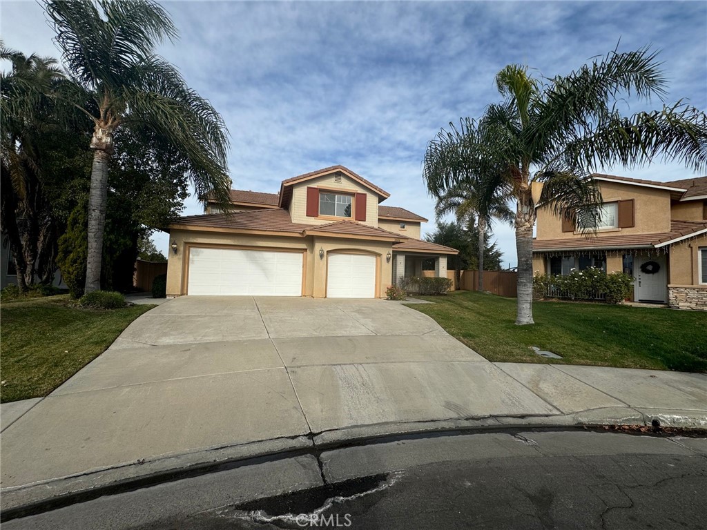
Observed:
[[[533,240],[533,252],[544,252],[548,250],[572,250],[572,249],[621,249],[621,248],[650,248],[665,245],[665,243],[707,230],[707,221],[704,223],[694,223],[691,221],[672,221],[670,232],[659,232],[653,234],[632,234],[632,235],[589,235],[587,237],[573,237],[563,240]]]

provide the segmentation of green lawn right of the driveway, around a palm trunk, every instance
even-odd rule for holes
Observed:
[[[536,324],[516,326],[515,298],[457,291],[409,305],[493,362],[707,372],[707,313],[653,307],[534,302]],[[539,346],[563,359],[535,355]]]

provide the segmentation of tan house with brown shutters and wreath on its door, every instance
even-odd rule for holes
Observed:
[[[654,182],[593,175],[604,206],[588,235],[539,208],[533,268],[600,267],[635,278],[633,299],[707,310],[707,177]]]

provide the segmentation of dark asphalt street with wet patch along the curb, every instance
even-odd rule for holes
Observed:
[[[445,433],[245,463],[3,529],[705,529],[705,491],[704,437]]]

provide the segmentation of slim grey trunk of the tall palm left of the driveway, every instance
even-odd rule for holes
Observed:
[[[91,148],[93,167],[88,194],[88,255],[86,257],[85,293],[100,290],[100,269],[103,258],[103,229],[105,228],[106,199],[108,194],[108,160],[112,147],[112,131],[96,126]]]

